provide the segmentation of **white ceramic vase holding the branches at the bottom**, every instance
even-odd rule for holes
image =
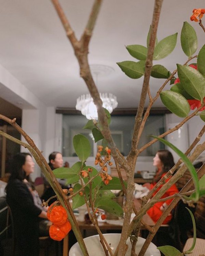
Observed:
[[[104,234],[105,239],[107,240],[108,244],[111,244],[112,251],[114,253],[119,241],[120,241],[121,234]],[[88,251],[89,256],[105,256],[105,252],[102,248],[102,245],[99,240],[99,235],[93,235],[92,237],[86,237],[83,239]],[[142,245],[144,244],[145,239],[138,237],[138,241],[136,244],[136,254],[139,253]],[[125,256],[131,255],[131,242],[129,239],[127,240],[128,250]],[[109,254],[110,255],[110,254]],[[153,243],[150,243],[145,256],[160,256],[160,251],[156,248]],[[78,243],[75,243],[69,251],[69,256],[83,256],[81,252],[81,248]]]

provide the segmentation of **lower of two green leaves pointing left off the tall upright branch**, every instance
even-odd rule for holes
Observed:
[[[139,62],[134,61],[123,61],[118,62],[118,66],[121,70],[130,78],[138,79],[144,75],[145,61],[141,60]]]

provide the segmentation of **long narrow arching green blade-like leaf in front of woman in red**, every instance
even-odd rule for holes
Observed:
[[[181,160],[184,162],[184,164],[187,166],[187,168],[192,176],[194,187],[195,187],[195,192],[196,192],[196,197],[194,198],[194,202],[197,202],[199,200],[199,180],[198,180],[196,170],[195,170],[193,164],[190,162],[190,160],[187,158],[187,156],[184,153],[182,153],[177,147],[175,147],[172,143],[168,142],[167,140],[165,140],[163,138],[159,138],[158,136],[151,135],[151,137],[158,139],[160,142],[164,143],[165,145],[167,145],[168,147],[173,149],[178,154],[178,156],[181,158]],[[186,198],[188,199],[188,197],[186,197]]]

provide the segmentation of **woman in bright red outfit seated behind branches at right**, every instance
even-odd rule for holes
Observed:
[[[175,165],[173,155],[170,151],[162,149],[156,152],[155,157],[153,158],[153,165],[156,166],[156,174],[152,180],[151,184],[146,184],[150,190],[158,183],[158,181]],[[165,183],[169,180],[166,179]],[[152,197],[160,190],[163,185],[154,191]],[[163,194],[161,198],[166,198],[178,193],[178,189],[176,185],[172,185],[166,192]],[[162,213],[168,207],[168,205],[172,202],[173,199],[168,199],[162,202],[155,203],[148,211],[148,215],[152,218],[154,222],[158,221]],[[172,219],[172,214],[170,213],[163,224],[167,224]]]

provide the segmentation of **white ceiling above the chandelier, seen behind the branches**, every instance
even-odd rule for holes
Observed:
[[[59,0],[71,27],[80,38],[93,0]],[[109,76],[98,77],[99,92],[117,96],[119,108],[136,108],[143,78],[124,75],[116,62],[134,60],[125,45],[146,46],[154,0],[104,0],[90,44],[90,64],[108,65]],[[74,108],[76,99],[88,90],[79,77],[79,67],[63,26],[50,0],[0,0],[0,64],[46,106]],[[195,28],[199,49],[205,42],[201,27],[190,22],[194,8],[205,8],[204,0],[164,0],[158,41],[179,32],[172,54],[158,61],[171,72],[187,57],[180,47],[183,21]],[[203,21],[203,19],[202,19]],[[205,18],[204,18],[205,23]],[[137,61],[137,60],[136,60]],[[154,62],[156,64],[156,62]],[[163,80],[151,79],[153,93]],[[167,85],[167,89],[170,86]],[[13,98],[16,104],[17,99]],[[160,100],[155,107],[162,106]]]

